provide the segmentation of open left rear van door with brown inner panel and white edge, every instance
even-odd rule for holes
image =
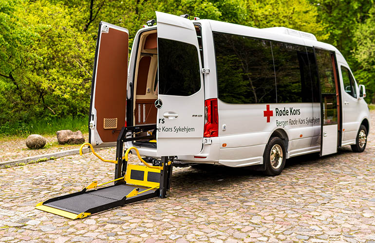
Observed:
[[[115,145],[125,126],[129,32],[100,22],[91,90],[89,142]]]

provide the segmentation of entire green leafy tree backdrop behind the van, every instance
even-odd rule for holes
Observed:
[[[338,47],[374,100],[373,0],[0,0],[0,125],[87,116],[100,21],[134,35],[154,11],[285,26]],[[374,7],[372,7],[374,9]],[[190,17],[190,18],[191,18]],[[356,28],[358,27],[358,28]],[[352,52],[354,50],[354,52]],[[227,60],[234,62],[235,60]],[[233,64],[237,65],[237,64]],[[244,75],[244,74],[236,74]]]

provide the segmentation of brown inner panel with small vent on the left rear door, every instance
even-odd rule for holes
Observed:
[[[125,126],[128,40],[128,33],[112,28],[101,35],[94,107],[96,129],[103,142],[115,142],[118,133],[112,130]]]

